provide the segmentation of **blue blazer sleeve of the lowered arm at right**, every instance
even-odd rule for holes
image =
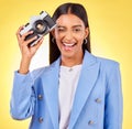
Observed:
[[[109,69],[105,105],[105,129],[122,129],[122,89],[119,64]]]

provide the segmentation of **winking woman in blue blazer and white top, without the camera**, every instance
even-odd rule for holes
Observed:
[[[121,129],[122,92],[119,64],[90,54],[90,31],[86,10],[78,3],[59,6],[50,35],[47,67],[29,72],[43,39],[32,47],[24,41],[32,32],[16,36],[22,53],[14,73],[11,115],[32,117],[30,129]]]

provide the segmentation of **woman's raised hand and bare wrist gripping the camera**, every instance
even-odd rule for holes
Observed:
[[[31,60],[32,60],[33,55],[36,53],[36,51],[38,50],[38,47],[41,46],[41,44],[43,42],[43,37],[41,40],[38,40],[38,42],[35,45],[29,47],[28,44],[33,42],[37,37],[34,36],[34,37],[25,41],[25,37],[29,34],[32,34],[33,31],[26,32],[23,35],[21,35],[20,32],[22,29],[23,29],[23,26],[20,26],[19,30],[16,31],[16,37],[18,37],[20,51],[22,54],[19,73],[26,74],[29,72]]]

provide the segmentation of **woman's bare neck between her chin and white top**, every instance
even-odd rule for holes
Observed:
[[[84,54],[79,54],[76,57],[62,56],[61,65],[73,67],[82,63]]]

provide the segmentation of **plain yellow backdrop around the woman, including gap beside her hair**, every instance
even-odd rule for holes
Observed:
[[[69,0],[68,0],[69,1]],[[123,129],[132,129],[132,1],[72,0],[82,3],[89,15],[92,53],[120,63],[123,90]],[[0,0],[0,129],[28,129],[29,120],[10,117],[13,72],[19,68],[21,53],[15,32],[31,15],[55,8],[67,0]],[[48,64],[45,41],[33,60],[31,69]]]

